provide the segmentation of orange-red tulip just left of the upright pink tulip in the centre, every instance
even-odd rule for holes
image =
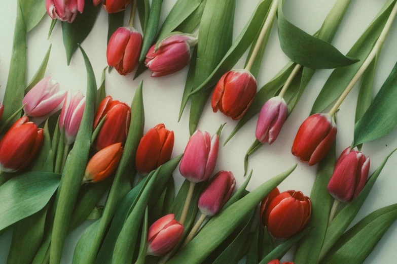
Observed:
[[[136,151],[135,167],[139,173],[149,173],[171,159],[174,133],[158,124],[140,140]]]

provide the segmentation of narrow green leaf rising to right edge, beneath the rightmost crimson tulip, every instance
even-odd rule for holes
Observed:
[[[348,203],[334,218],[331,224],[327,228],[326,236],[321,248],[318,261],[327,254],[327,252],[332,248],[335,242],[342,236],[342,234],[349,227],[350,223],[353,221],[354,217],[357,215],[361,206],[363,206],[366,198],[368,197],[372,187],[375,184],[376,179],[378,179],[380,172],[385,166],[388,158],[394,153],[393,150],[386,158],[382,161],[379,167],[372,173],[371,177],[367,181],[364,189],[357,195],[357,197]]]

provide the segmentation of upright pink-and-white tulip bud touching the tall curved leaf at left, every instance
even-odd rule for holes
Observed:
[[[86,98],[80,91],[73,97],[71,90],[67,92],[59,117],[59,129],[65,130],[65,144],[70,145],[75,142],[85,105]]]

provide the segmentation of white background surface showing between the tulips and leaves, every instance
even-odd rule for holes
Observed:
[[[161,23],[164,21],[175,1],[176,0],[164,1]],[[295,25],[306,30],[308,33],[314,33],[321,26],[323,19],[327,16],[335,2],[336,0],[286,1],[284,14]],[[333,45],[342,53],[346,54],[353,43],[371,23],[372,19],[385,2],[385,0],[352,0],[345,18],[334,38]],[[236,0],[234,39],[245,26],[246,21],[250,17],[252,11],[254,11],[257,3],[257,0]],[[129,14],[129,8],[126,14]],[[0,99],[2,101],[10,66],[15,17],[16,1],[7,1],[7,4],[2,5],[0,9],[0,24],[2,25],[0,30]],[[128,23],[128,18],[128,15],[126,15],[125,24]],[[50,22],[50,18],[46,16],[41,24],[27,35],[27,82],[38,69],[47,48],[50,43],[52,43],[52,51],[46,75],[50,75],[57,80],[65,90],[70,88],[74,91],[81,90],[85,93],[86,70],[81,53],[77,51],[71,60],[70,66],[67,67],[60,23],[57,23],[51,38],[47,40]],[[137,16],[135,25],[136,28],[141,31]],[[277,23],[273,24],[263,58],[261,72],[258,77],[258,89],[268,82],[289,61],[279,47],[276,25]],[[97,83],[100,81],[103,67],[106,66],[106,35],[107,13],[101,9],[93,30],[82,43],[82,47],[91,60]],[[397,52],[395,50],[396,42],[397,22],[394,22],[379,58],[375,76],[376,92],[379,91],[382,83],[397,61]],[[243,56],[235,68],[243,67],[245,57],[246,55]],[[161,78],[151,78],[150,72],[146,71],[140,76],[144,79],[143,101],[145,103],[145,131],[158,123],[164,123],[168,129],[173,130],[175,133],[173,156],[184,151],[189,139],[188,124],[190,104],[187,105],[181,121],[179,123],[177,122],[187,71],[188,67],[178,73]],[[265,145],[265,147],[262,147],[257,153],[251,156],[249,169],[253,168],[254,174],[248,185],[248,190],[255,189],[274,175],[298,163],[295,172],[279,186],[279,189],[281,191],[292,189],[301,190],[305,195],[310,195],[310,190],[316,174],[316,166],[309,167],[308,164],[301,163],[298,158],[291,154],[291,147],[299,125],[308,116],[316,96],[331,72],[332,70],[316,71],[299,104],[290,118],[285,122],[276,142],[271,146]],[[132,77],[133,73],[128,76],[121,76],[115,70],[110,74],[106,74],[106,94],[112,95],[115,100],[121,100],[130,104],[136,86],[139,83],[139,79],[133,81]],[[338,155],[347,146],[350,146],[353,138],[353,122],[357,93],[358,85],[356,85],[346,98],[338,113]],[[231,170],[235,175],[237,187],[245,180],[242,176],[243,157],[246,150],[255,140],[256,119],[256,117],[252,118],[226,147],[220,147],[218,164],[216,165],[215,171],[221,169]],[[199,124],[199,129],[207,130],[213,134],[223,122],[227,122],[227,124],[223,131],[223,137],[221,139],[222,144],[237,124],[237,121],[225,117],[220,112],[214,114],[210,107],[210,102],[208,101]],[[396,136],[397,130],[394,130],[386,137],[364,144],[363,152],[371,157],[370,173],[376,169],[386,154],[397,147]],[[394,154],[384,167],[353,224],[370,212],[397,202],[397,197],[395,196],[397,178],[394,170],[396,162],[397,154]],[[184,180],[178,170],[175,170],[174,179],[176,188],[178,189]],[[87,221],[67,237],[62,263],[71,263],[74,247],[81,233],[90,223],[91,222]],[[12,231],[8,231],[0,238],[0,263],[6,263],[7,261],[11,238]],[[395,248],[397,248],[396,238],[397,225],[394,224],[382,238],[373,253],[367,258],[365,263],[394,263],[397,256],[395,252]],[[285,260],[291,261],[291,256],[292,255],[286,256]]]

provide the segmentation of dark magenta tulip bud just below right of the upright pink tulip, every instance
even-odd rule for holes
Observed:
[[[201,213],[207,216],[218,213],[229,200],[235,186],[236,180],[231,171],[216,173],[200,195],[198,208]]]

